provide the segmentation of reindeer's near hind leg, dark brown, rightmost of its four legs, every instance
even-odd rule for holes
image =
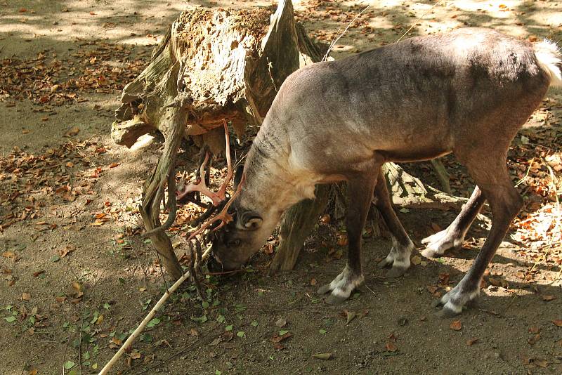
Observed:
[[[492,228],[469,272],[466,272],[455,288],[434,304],[443,305],[443,309],[438,313],[440,316],[461,313],[463,306],[478,296],[484,271],[497,247],[502,243],[509,224],[523,204],[523,199],[518,195],[509,178],[505,155],[491,160],[488,158],[473,160],[475,164],[467,164],[466,167],[490,204]]]

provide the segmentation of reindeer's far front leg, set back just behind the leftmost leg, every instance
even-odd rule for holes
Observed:
[[[374,205],[381,212],[388,230],[392,235],[392,249],[388,256],[379,263],[379,268],[391,267],[386,272],[386,277],[399,277],[410,268],[410,254],[414,249],[414,244],[408,237],[402,223],[398,220],[396,212],[392,208],[391,197],[388,194],[384,173],[379,170],[377,185],[374,187]]]

